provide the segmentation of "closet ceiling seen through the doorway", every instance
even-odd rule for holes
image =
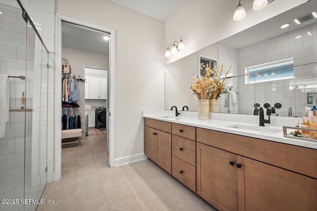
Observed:
[[[109,54],[109,41],[104,40],[108,33],[62,21],[62,46]]]

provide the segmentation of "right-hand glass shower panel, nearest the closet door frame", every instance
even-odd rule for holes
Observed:
[[[34,23],[42,32],[42,24]],[[41,35],[41,34],[40,34]],[[35,210],[47,183],[48,53],[30,23],[27,24],[26,125],[24,198],[35,199],[25,210]]]

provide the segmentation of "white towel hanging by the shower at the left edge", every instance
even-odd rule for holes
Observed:
[[[5,126],[9,121],[9,78],[0,75],[0,138],[4,137]]]

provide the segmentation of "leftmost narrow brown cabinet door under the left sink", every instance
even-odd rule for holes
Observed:
[[[144,129],[144,153],[152,161],[157,161],[158,132],[151,127]]]

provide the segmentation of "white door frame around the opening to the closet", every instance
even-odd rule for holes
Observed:
[[[98,31],[103,31],[110,34],[109,40],[109,166],[114,167],[114,117],[115,117],[115,95],[114,95],[114,76],[115,76],[115,30],[100,26],[94,23],[86,22],[80,19],[69,17],[63,14],[55,14],[55,96],[54,96],[54,142],[53,142],[53,181],[57,181],[61,178],[61,129],[60,129],[60,115],[61,115],[61,70],[57,67],[61,67],[62,56],[62,33],[61,33],[61,21],[67,21],[77,25],[86,26]]]

